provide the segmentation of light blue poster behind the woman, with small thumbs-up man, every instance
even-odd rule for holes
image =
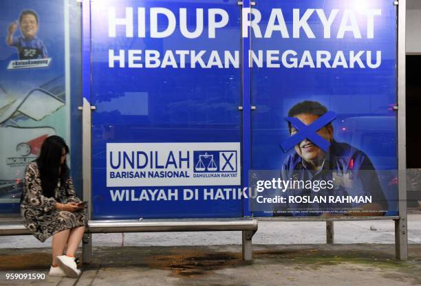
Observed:
[[[1,1],[0,212],[20,212],[23,173],[67,137],[64,1]]]

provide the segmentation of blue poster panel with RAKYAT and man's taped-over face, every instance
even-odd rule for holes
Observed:
[[[393,1],[260,1],[246,16],[253,214],[397,215]]]

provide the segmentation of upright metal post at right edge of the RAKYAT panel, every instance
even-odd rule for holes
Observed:
[[[395,221],[396,258],[408,259],[407,232],[407,132],[406,132],[406,10],[407,1],[400,0],[398,5],[398,190],[399,219]]]

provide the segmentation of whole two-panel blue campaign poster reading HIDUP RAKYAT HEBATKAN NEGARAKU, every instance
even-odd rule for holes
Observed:
[[[391,1],[108,0],[90,20],[94,219],[397,213]]]

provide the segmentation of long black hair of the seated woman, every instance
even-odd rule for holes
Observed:
[[[65,181],[69,177],[69,167],[66,161],[61,164],[61,155],[63,148],[66,154],[69,153],[69,146],[62,137],[52,135],[47,137],[41,146],[36,164],[41,175],[41,187],[45,197],[55,197],[55,190],[58,180],[61,186],[65,186]],[[60,170],[60,173],[58,172]]]

